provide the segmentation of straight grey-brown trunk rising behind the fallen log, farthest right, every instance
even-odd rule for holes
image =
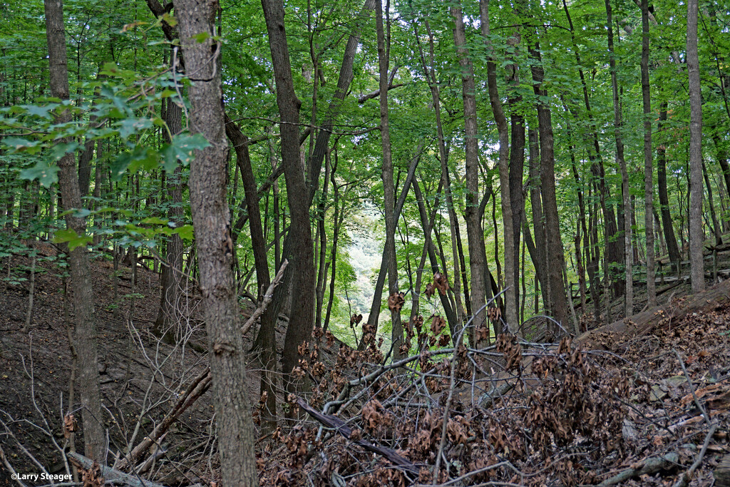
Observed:
[[[697,10],[699,0],[687,1],[687,68],[689,77],[689,253],[692,292],[704,291],[704,261],[702,259],[702,93],[699,83],[699,53],[697,52]]]

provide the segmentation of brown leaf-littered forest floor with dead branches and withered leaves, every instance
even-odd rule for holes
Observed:
[[[29,258],[3,258],[1,272],[7,272],[8,264],[28,277],[24,269],[30,267]],[[98,259],[92,266],[110,450],[124,452],[125,442],[136,445],[164,417],[191,378],[206,367],[206,358],[195,350],[198,346],[173,347],[151,333],[158,309],[154,272],[139,267],[133,290],[130,269],[120,266],[115,302],[111,263]],[[17,472],[41,472],[40,467],[52,473],[64,471],[59,447],[64,445],[63,413],[69,404],[72,357],[61,291],[55,264],[39,261],[31,333],[26,334],[22,329],[28,281],[0,283],[0,456],[4,455],[0,486],[16,485],[5,461]],[[556,349],[503,340],[493,349],[490,367],[501,375],[503,385],[512,386],[503,389],[493,383],[492,390],[499,388],[502,394],[493,396],[491,407],[475,404],[475,384],[477,389],[480,385],[475,375],[469,383],[472,369],[461,375],[458,370],[455,375],[453,368],[447,373],[447,356],[434,356],[429,362],[421,354],[416,359],[421,369],[433,366],[441,374],[423,381],[424,393],[388,388],[406,372],[415,373],[412,369],[388,377],[393,371],[381,368],[388,380],[378,376],[367,388],[358,389],[359,396],[353,386],[353,402],[337,413],[353,427],[349,440],[333,430],[315,439],[320,423],[311,416],[302,416],[300,426],[288,434],[260,438],[261,483],[431,484],[424,467],[433,467],[438,456],[442,459],[438,480],[449,486],[490,485],[486,482],[664,486],[674,485],[694,463],[691,481],[680,485],[710,486],[713,472],[730,453],[730,304],[727,300],[716,306],[707,303],[702,312],[677,313],[690,299],[688,294],[688,285],[661,294],[666,312],[656,326],[642,334],[595,334],[591,344],[596,350],[584,353],[575,352],[569,342]],[[640,295],[639,291],[637,312],[645,304]],[[193,296],[188,302],[188,326],[191,342],[204,344],[198,302],[199,297]],[[614,318],[620,318],[620,303],[614,303]],[[285,323],[280,322],[280,349],[284,331]],[[434,338],[439,332],[431,326]],[[253,332],[245,337],[247,347],[252,337]],[[338,355],[338,348],[339,343],[320,348],[323,380],[309,397],[315,409],[337,396],[333,391],[343,375],[350,380],[377,371],[377,364],[366,366],[365,356],[347,350],[339,350]],[[247,365],[248,393],[255,403],[259,366],[255,358]],[[576,370],[577,382],[571,378]],[[320,391],[324,384],[327,391]],[[471,393],[464,393],[469,386]],[[447,395],[449,390],[457,394]],[[393,399],[394,394],[402,397]],[[439,418],[449,418],[444,430],[447,441],[441,441]],[[219,471],[211,441],[213,420],[211,394],[204,394],[167,434],[166,449],[150,456],[145,478],[166,486],[215,481]],[[302,454],[302,442],[312,450],[304,448]],[[365,443],[380,448],[380,453],[367,451]],[[80,438],[75,448],[82,451]],[[396,454],[405,463],[393,469],[383,452]],[[26,485],[42,485],[42,481],[26,481]]]

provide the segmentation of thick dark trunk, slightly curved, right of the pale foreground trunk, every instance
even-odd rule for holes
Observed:
[[[282,372],[285,391],[296,392],[297,384],[291,371],[299,362],[297,348],[302,342],[310,340],[314,324],[314,248],[310,228],[310,198],[304,180],[304,168],[299,159],[299,107],[301,101],[294,93],[289,47],[284,26],[284,5],[282,0],[261,0],[266,18],[266,31],[269,34],[269,49],[272,54],[276,98],[282,123],[281,155],[286,180],[291,226],[284,241],[283,257],[291,263],[285,272],[284,284],[291,282],[292,309],[289,326],[284,340]],[[277,299],[277,302],[280,299]],[[276,303],[274,303],[276,304]],[[274,311],[278,313],[277,306]]]

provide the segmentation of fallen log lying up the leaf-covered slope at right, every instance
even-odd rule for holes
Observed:
[[[702,293],[693,294],[686,299],[677,300],[670,304],[661,304],[650,310],[640,312],[628,319],[614,321],[600,328],[586,331],[573,342],[582,345],[585,349],[605,349],[606,334],[621,334],[623,337],[638,337],[649,333],[658,326],[671,324],[687,315],[696,312],[710,312],[718,310],[730,303],[730,280],[713,286]],[[624,340],[612,340],[614,344]]]

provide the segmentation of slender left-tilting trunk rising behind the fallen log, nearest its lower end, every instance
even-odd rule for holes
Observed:
[[[629,193],[629,172],[623,158],[623,139],[621,137],[621,102],[618,99],[618,77],[616,58],[613,50],[613,18],[611,0],[606,0],[606,29],[608,32],[609,66],[613,93],[613,134],[616,142],[616,163],[621,168],[621,193],[623,195],[623,263],[626,266],[626,285],[624,288],[624,312],[626,317],[634,314],[634,278],[631,253],[631,193]],[[619,217],[621,219],[621,217]]]

